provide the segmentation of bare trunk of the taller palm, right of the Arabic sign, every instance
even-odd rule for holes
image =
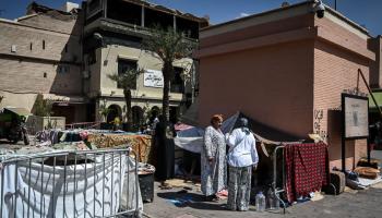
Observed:
[[[163,87],[163,105],[162,105],[162,114],[166,119],[169,120],[169,92],[170,92],[170,78],[172,74],[172,62],[164,63],[163,66],[163,78],[164,78],[164,87]]]

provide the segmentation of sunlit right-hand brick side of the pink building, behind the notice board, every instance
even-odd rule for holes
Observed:
[[[323,20],[319,22],[319,38],[314,44],[313,131],[327,140],[331,168],[341,168],[341,94],[357,87],[358,69],[369,80],[370,60],[362,55],[367,50],[367,39]],[[325,32],[324,39],[320,38],[320,31]],[[361,78],[359,88],[368,93]],[[351,169],[366,156],[366,140],[347,141],[346,168]]]

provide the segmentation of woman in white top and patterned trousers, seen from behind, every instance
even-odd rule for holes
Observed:
[[[259,156],[253,134],[248,129],[248,120],[241,118],[239,128],[227,135],[229,182],[227,206],[231,210],[249,209],[252,167],[256,167]]]

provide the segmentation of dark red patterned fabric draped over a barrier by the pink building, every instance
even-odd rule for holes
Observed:
[[[324,143],[286,145],[284,156],[289,203],[329,183],[329,155]]]

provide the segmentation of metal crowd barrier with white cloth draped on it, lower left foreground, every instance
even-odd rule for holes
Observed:
[[[0,165],[0,218],[140,214],[138,158],[130,148],[10,156]]]

